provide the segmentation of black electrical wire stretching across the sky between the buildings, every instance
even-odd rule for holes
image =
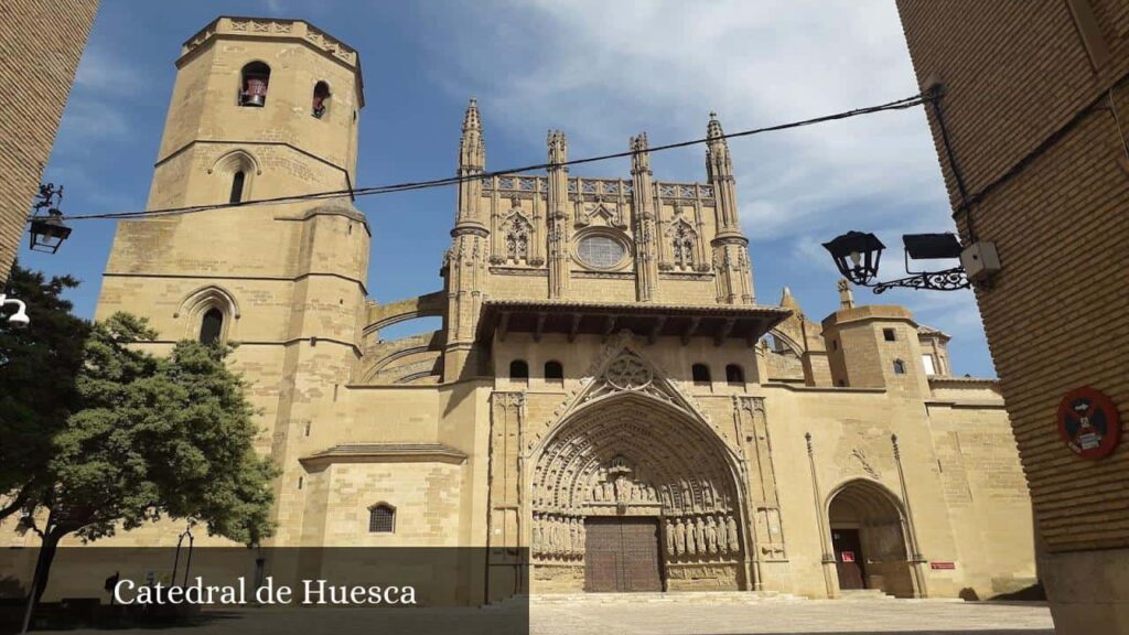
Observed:
[[[613,153],[613,154],[609,154],[609,155],[599,155],[599,156],[594,156],[594,157],[585,157],[585,158],[571,159],[571,160],[561,162],[561,163],[539,163],[539,164],[526,165],[526,166],[520,166],[520,167],[511,167],[511,168],[507,168],[507,169],[499,169],[499,171],[492,171],[492,172],[479,172],[479,173],[467,174],[467,175],[461,175],[461,176],[450,176],[450,177],[446,177],[446,179],[432,179],[432,180],[428,180],[428,181],[394,183],[394,184],[390,184],[390,185],[373,185],[373,186],[367,186],[367,188],[356,188],[356,189],[349,189],[349,190],[333,190],[333,191],[325,191],[325,192],[314,192],[314,193],[308,193],[308,194],[292,194],[292,195],[287,195],[287,197],[274,197],[274,198],[270,198],[270,199],[257,199],[257,200],[250,200],[250,201],[242,201],[242,202],[227,202],[227,203],[215,203],[215,205],[174,207],[174,208],[163,208],[163,209],[143,210],[143,211],[120,211],[120,212],[105,212],[105,214],[84,214],[84,215],[72,215],[72,216],[65,216],[64,215],[64,216],[59,217],[59,219],[60,220],[96,220],[96,219],[120,219],[120,218],[138,218],[138,217],[154,218],[154,217],[163,217],[163,216],[183,216],[183,215],[187,215],[187,214],[199,214],[199,212],[203,212],[203,211],[215,211],[215,210],[219,210],[219,209],[231,209],[231,208],[240,208],[240,207],[254,207],[254,206],[262,206],[262,205],[291,203],[291,202],[312,201],[312,200],[321,200],[321,199],[335,199],[335,198],[341,198],[341,197],[368,197],[368,195],[378,195],[378,194],[391,194],[391,193],[396,193],[396,192],[408,192],[408,191],[414,191],[414,190],[425,190],[425,189],[430,189],[430,188],[443,188],[443,186],[447,186],[447,185],[456,185],[456,184],[462,183],[464,181],[473,181],[475,179],[490,179],[490,177],[493,177],[493,176],[516,176],[516,175],[518,175],[518,173],[526,173],[526,172],[534,172],[534,171],[541,171],[541,169],[558,168],[558,167],[564,167],[564,166],[570,166],[570,165],[581,165],[581,164],[588,164],[588,163],[596,163],[596,162],[602,162],[602,160],[630,157],[630,156],[638,155],[638,154],[660,153],[660,151],[664,151],[664,150],[673,150],[673,149],[677,149],[677,148],[685,148],[685,147],[689,147],[689,146],[697,146],[697,145],[701,145],[701,143],[708,143],[710,141],[715,141],[715,140],[719,140],[719,139],[737,139],[737,138],[741,138],[741,137],[752,137],[754,134],[762,134],[762,133],[765,133],[765,132],[777,132],[777,131],[781,131],[781,130],[789,130],[789,129],[802,128],[802,127],[806,127],[806,125],[815,125],[815,124],[819,124],[819,123],[826,123],[826,122],[831,122],[831,121],[850,119],[850,118],[856,118],[856,116],[861,116],[861,115],[867,115],[867,114],[875,114],[875,113],[881,113],[881,112],[886,112],[886,111],[907,110],[907,108],[912,108],[912,107],[916,107],[916,106],[929,103],[934,98],[935,98],[934,96],[912,95],[910,97],[904,97],[904,98],[896,99],[896,101],[893,101],[893,102],[887,102],[885,104],[879,104],[879,105],[875,105],[875,106],[866,106],[866,107],[855,108],[855,110],[850,110],[850,111],[842,111],[842,112],[838,112],[838,113],[833,113],[833,114],[816,116],[816,118],[812,118],[812,119],[805,119],[805,120],[800,120],[800,121],[793,121],[793,122],[788,122],[788,123],[780,123],[780,124],[768,125],[768,127],[763,127],[763,128],[753,128],[753,129],[750,129],[750,130],[742,130],[739,132],[730,132],[730,133],[727,133],[727,134],[724,133],[724,134],[715,136],[715,137],[703,137],[701,139],[692,139],[692,140],[689,140],[689,141],[679,141],[679,142],[675,142],[675,143],[666,143],[666,145],[663,145],[663,146],[655,146],[655,147],[646,148],[646,149],[625,150],[625,151],[622,151],[622,153]],[[34,217],[28,217],[28,220],[30,221]]]

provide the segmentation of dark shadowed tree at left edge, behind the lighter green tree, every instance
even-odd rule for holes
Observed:
[[[3,288],[27,303],[32,323],[17,329],[0,319],[0,521],[41,497],[52,441],[78,409],[75,379],[89,324],[62,297],[77,286],[17,264]]]

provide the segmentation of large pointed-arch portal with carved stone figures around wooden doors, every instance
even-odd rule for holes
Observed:
[[[627,392],[581,407],[531,477],[533,592],[751,586],[733,459],[673,405]]]

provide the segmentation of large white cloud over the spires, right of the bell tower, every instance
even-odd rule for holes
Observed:
[[[458,19],[481,24],[464,31],[473,40],[456,36],[465,80],[453,89],[532,139],[566,128],[574,156],[621,149],[644,128],[653,145],[701,137],[711,110],[732,132],[917,92],[885,0],[500,1]],[[753,241],[834,233],[843,208],[873,228],[948,227],[920,108],[730,145]],[[679,174],[656,173],[702,179],[701,155],[681,151],[664,159]]]

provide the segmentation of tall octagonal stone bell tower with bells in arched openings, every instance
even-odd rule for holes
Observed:
[[[97,318],[148,318],[157,351],[182,338],[239,343],[231,365],[262,411],[260,450],[283,470],[275,543],[287,545],[301,522],[298,459],[360,357],[369,227],[349,197],[360,60],[305,21],[220,17],[176,68],[148,209],[225,207],[121,223]],[[323,192],[341,194],[248,205]]]

